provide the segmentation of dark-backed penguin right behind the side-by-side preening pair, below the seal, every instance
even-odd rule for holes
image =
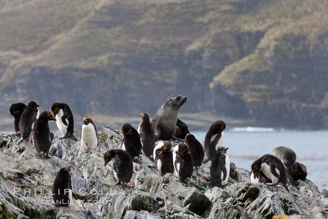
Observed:
[[[185,139],[185,144],[187,144],[189,151],[191,152],[191,156],[193,157],[196,173],[199,175],[198,169],[204,160],[204,149],[202,144],[197,141],[194,135],[187,134]]]

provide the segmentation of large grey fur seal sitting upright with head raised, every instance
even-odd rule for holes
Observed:
[[[178,113],[179,109],[186,102],[187,98],[181,95],[171,95],[168,97],[163,105],[159,107],[157,110],[153,120],[152,125],[155,130],[155,138],[158,140],[169,140],[169,139],[175,139],[184,142],[184,140],[179,136],[174,136],[174,130],[175,133],[189,133],[188,126],[181,125],[183,122],[179,120],[178,121]],[[182,122],[182,123],[181,123]],[[184,123],[183,123],[184,124]],[[179,126],[177,126],[179,125]],[[176,128],[177,127],[177,128]],[[187,127],[187,132],[183,131]],[[180,130],[182,129],[182,130]]]

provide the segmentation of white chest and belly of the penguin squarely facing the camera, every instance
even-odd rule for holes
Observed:
[[[89,123],[82,125],[81,132],[81,146],[84,150],[95,149],[98,144],[96,130],[94,126]]]

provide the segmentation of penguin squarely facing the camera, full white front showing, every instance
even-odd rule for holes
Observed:
[[[91,153],[94,153],[97,144],[98,133],[96,126],[90,117],[85,117],[81,126],[81,146],[84,149],[84,153],[87,153],[89,149],[91,149]]]

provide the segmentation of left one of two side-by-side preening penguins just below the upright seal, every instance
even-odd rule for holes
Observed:
[[[154,162],[157,172],[164,176],[174,173],[172,145],[169,141],[159,142],[154,148]]]

